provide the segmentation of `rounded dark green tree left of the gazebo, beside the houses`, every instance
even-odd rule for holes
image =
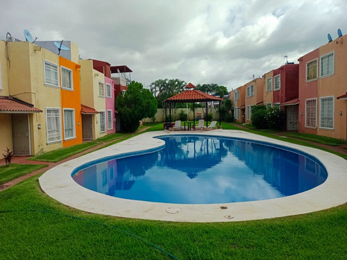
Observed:
[[[124,96],[117,96],[115,108],[121,116],[122,130],[135,132],[141,119],[155,116],[157,101],[149,89],[144,89],[142,83],[132,81]]]

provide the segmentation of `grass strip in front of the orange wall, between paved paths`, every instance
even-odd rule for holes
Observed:
[[[43,153],[42,155],[36,155],[31,157],[30,160],[42,162],[60,162],[62,159],[70,157],[71,155],[76,155],[76,153],[81,153],[89,148],[97,146],[98,144],[99,143],[94,141],[77,144],[76,146],[69,146],[67,148],[52,150],[51,152]]]

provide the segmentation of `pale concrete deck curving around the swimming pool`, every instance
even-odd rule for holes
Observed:
[[[112,155],[158,148],[164,145],[164,141],[153,137],[182,134],[237,137],[266,141],[302,150],[321,161],[328,171],[328,179],[319,187],[310,191],[283,198],[253,202],[183,205],[126,200],[107,196],[81,187],[71,177],[72,171],[86,162]],[[96,150],[60,164],[46,171],[39,178],[39,182],[42,190],[51,198],[70,207],[95,214],[180,222],[229,222],[305,214],[344,204],[347,202],[347,161],[323,150],[289,144],[284,141],[237,130],[192,131],[189,133],[184,131],[158,131],[145,132],[142,135],[137,135],[113,146]]]

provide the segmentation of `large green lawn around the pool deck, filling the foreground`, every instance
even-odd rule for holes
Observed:
[[[223,122],[222,127],[242,130]],[[162,130],[162,123],[146,131],[155,129]],[[246,132],[314,146],[269,132]],[[71,209],[46,196],[38,177],[0,192],[0,259],[347,258],[347,204],[239,223],[137,220]]]

